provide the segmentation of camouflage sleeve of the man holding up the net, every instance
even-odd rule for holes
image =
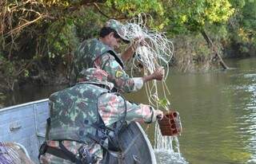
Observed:
[[[121,65],[111,56],[106,53],[101,57],[101,68],[114,77],[111,81],[115,88],[120,92],[136,92],[143,86],[142,77],[130,78],[130,76],[122,69]]]

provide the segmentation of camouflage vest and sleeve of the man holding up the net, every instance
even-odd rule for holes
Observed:
[[[74,63],[70,74],[70,84],[78,82],[78,74],[83,68],[101,68],[115,77],[114,88],[118,92],[136,92],[143,86],[140,77],[130,78],[125,72],[123,63],[118,54],[98,39],[84,41],[74,55]]]

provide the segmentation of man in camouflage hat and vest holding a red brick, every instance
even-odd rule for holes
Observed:
[[[151,123],[162,117],[162,111],[110,92],[114,84],[102,69],[84,69],[80,75],[74,87],[49,98],[50,119],[46,143],[40,148],[41,163],[101,163],[103,149],[114,145],[114,136],[124,122]]]

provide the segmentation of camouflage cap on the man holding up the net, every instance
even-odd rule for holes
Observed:
[[[114,29],[118,33],[119,37],[122,38],[123,41],[125,41],[126,43],[130,42],[130,39],[126,37],[125,26],[122,25],[120,21],[110,19],[109,21],[106,21],[105,27],[110,27],[111,29]]]

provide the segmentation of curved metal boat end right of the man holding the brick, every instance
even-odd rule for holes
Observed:
[[[131,122],[125,131],[122,131],[119,136],[119,144],[122,153],[107,153],[106,163],[157,163],[150,141],[139,123]]]

